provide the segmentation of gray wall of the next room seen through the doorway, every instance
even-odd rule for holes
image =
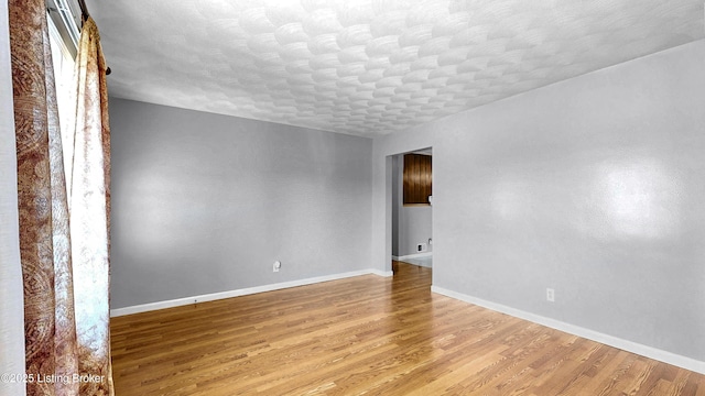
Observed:
[[[392,158],[392,255],[401,257],[419,254],[416,245],[426,243],[426,251],[432,253],[433,245],[429,239],[433,237],[433,208],[430,206],[404,206],[404,156]]]

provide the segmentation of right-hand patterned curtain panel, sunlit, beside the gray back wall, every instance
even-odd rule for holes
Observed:
[[[110,129],[106,62],[93,19],[84,23],[76,58],[78,95],[69,189],[74,301],[82,395],[112,394],[110,365]]]

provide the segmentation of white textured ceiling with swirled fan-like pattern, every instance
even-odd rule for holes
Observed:
[[[377,136],[705,36],[702,0],[89,0],[112,96]]]

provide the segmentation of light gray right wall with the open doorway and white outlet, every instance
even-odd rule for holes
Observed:
[[[434,286],[705,361],[703,103],[698,41],[376,140],[375,265],[433,146]]]

